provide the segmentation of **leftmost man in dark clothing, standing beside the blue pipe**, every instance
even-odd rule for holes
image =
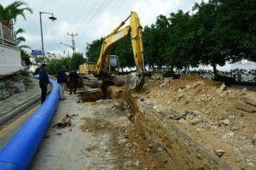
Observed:
[[[46,93],[47,93],[47,86],[49,84],[49,77],[46,72],[47,65],[42,64],[42,67],[39,71],[39,87],[41,88],[41,104],[44,103],[44,100],[46,99]]]

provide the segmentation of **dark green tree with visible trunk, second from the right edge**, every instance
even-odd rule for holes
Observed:
[[[223,47],[218,41],[216,25],[218,23],[218,5],[216,3],[195,4],[198,10],[192,18],[191,27],[194,29],[193,51],[195,59],[201,65],[212,65],[214,77],[218,76],[217,65],[225,65],[229,60],[223,54]]]

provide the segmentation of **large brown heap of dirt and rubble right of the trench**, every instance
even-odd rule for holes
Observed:
[[[204,77],[147,80],[132,95],[237,169],[256,169],[256,92]]]

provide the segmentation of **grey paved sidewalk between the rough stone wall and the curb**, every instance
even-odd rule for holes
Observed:
[[[33,87],[26,92],[14,94],[7,99],[0,101],[0,124],[25,110],[30,105],[38,102],[41,98],[41,89],[38,79],[31,78]],[[48,87],[50,89],[50,85]]]

